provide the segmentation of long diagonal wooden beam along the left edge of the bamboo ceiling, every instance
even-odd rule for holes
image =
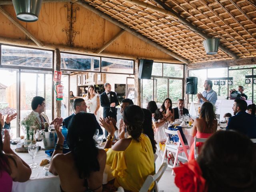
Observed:
[[[125,24],[122,24],[121,22],[115,20],[114,18],[108,16],[107,14],[104,14],[103,12],[97,10],[96,8],[94,8],[93,6],[88,5],[86,2],[80,2],[78,1],[77,4],[83,6],[84,8],[90,10],[91,12],[97,14],[98,16],[108,20],[109,22],[112,22],[113,24],[115,24],[116,26],[119,26],[120,28],[126,30],[127,32],[129,32],[130,34],[138,37],[139,39],[143,40],[144,42],[154,46],[155,48],[157,48],[158,50],[180,60],[181,62],[188,64],[189,61],[184,59],[183,57],[179,56],[178,54],[175,54],[174,52],[160,46],[159,44],[157,44],[156,42],[146,38],[145,36],[143,36],[142,34],[140,34],[139,32],[136,32],[135,30],[129,28],[128,26],[126,26]]]

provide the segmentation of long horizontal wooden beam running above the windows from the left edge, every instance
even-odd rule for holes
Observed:
[[[8,44],[8,45],[16,45],[16,46],[23,46],[27,48],[38,48],[38,46],[31,40],[20,40],[20,39],[13,39],[13,38],[5,38],[0,37],[0,43]],[[55,50],[59,49],[61,52],[68,52],[68,53],[78,53],[78,54],[89,54],[93,56],[102,56],[102,57],[115,57],[115,58],[122,58],[122,59],[149,59],[154,60],[156,62],[166,62],[166,63],[173,63],[173,64],[183,64],[183,62],[175,59],[162,59],[162,58],[152,58],[152,57],[142,57],[138,55],[124,55],[124,54],[117,54],[117,53],[110,53],[110,52],[101,52],[99,54],[95,54],[94,50],[88,50],[84,48],[78,47],[70,47],[66,45],[54,45],[54,44],[45,44],[44,49],[47,50]]]

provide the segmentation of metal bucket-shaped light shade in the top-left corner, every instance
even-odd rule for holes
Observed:
[[[16,16],[24,22],[34,22],[38,20],[42,0],[12,0]]]

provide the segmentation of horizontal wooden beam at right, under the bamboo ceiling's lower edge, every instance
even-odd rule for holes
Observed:
[[[247,57],[241,59],[221,60],[212,62],[190,63],[188,69],[202,69],[202,68],[222,68],[229,66],[253,65],[256,63],[256,57]]]

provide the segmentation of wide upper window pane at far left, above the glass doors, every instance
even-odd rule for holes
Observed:
[[[1,64],[52,68],[52,51],[1,45]]]

